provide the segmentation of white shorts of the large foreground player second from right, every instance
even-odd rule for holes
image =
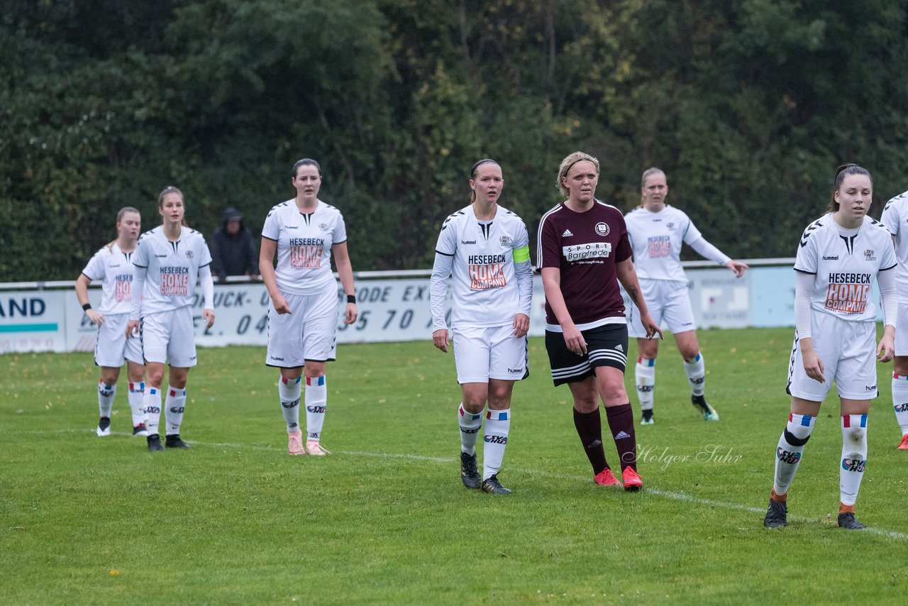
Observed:
[[[814,351],[823,361],[826,380],[816,382],[804,372],[804,359],[795,335],[786,392],[796,398],[823,402],[834,380],[840,398],[876,397],[876,323],[849,322],[814,310],[811,334]]]

